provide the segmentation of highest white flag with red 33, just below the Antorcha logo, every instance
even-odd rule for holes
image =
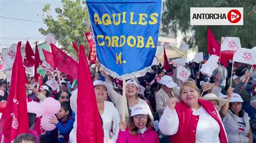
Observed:
[[[238,37],[221,37],[221,51],[237,51],[241,48],[240,39]]]

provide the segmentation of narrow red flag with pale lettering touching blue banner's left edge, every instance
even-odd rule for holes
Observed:
[[[90,60],[90,64],[93,64],[96,62],[96,48],[95,48],[95,43],[92,40],[92,35],[90,32],[84,33],[85,37],[87,39],[88,45],[90,47],[90,53],[88,56],[88,59]]]

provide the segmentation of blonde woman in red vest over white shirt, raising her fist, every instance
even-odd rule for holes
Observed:
[[[199,89],[193,82],[184,82],[180,99],[170,98],[159,121],[159,129],[171,135],[172,142],[226,143],[223,123],[211,102],[199,99]],[[177,103],[177,104],[176,104]]]

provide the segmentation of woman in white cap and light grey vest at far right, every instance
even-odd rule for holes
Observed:
[[[229,109],[224,112],[223,123],[227,132],[228,142],[253,142],[253,134],[250,127],[250,117],[242,110],[241,96],[231,95]]]

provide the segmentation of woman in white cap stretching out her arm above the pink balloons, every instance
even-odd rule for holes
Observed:
[[[28,90],[32,90],[32,92],[34,92],[36,94],[36,97],[43,102],[44,99],[46,99],[47,97],[51,96],[51,92],[49,91],[49,87],[47,85],[43,85],[40,88],[40,92],[37,91],[37,89],[35,87],[33,87],[31,84],[26,84],[26,88]]]

